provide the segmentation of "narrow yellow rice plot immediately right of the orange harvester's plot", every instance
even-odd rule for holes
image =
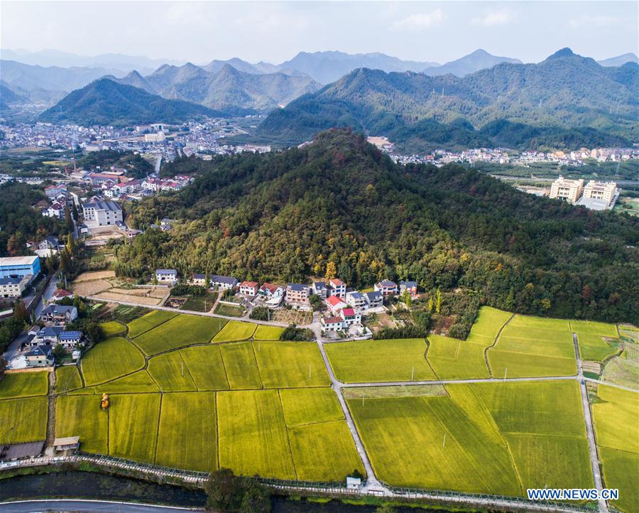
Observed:
[[[159,417],[160,394],[111,396],[109,454],[153,463]]]

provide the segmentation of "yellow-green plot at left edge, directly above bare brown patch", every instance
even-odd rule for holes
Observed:
[[[0,442],[23,443],[47,436],[46,397],[0,401]]]

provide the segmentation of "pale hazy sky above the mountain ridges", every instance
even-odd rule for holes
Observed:
[[[564,46],[596,59],[639,53],[637,1],[1,1],[1,48],[81,55],[239,57],[383,52],[444,63],[477,48],[538,62]]]

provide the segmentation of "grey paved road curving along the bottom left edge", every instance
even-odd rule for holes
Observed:
[[[204,512],[204,509],[188,509],[132,502],[109,502],[97,500],[28,500],[0,504],[3,513],[34,512],[104,512],[104,513],[185,513]]]

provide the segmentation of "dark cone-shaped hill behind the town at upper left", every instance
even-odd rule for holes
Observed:
[[[182,123],[204,116],[220,117],[222,112],[182,100],[157,95],[123,85],[108,78],[91,82],[65,96],[38,117],[51,123],[127,126],[133,124]]]

